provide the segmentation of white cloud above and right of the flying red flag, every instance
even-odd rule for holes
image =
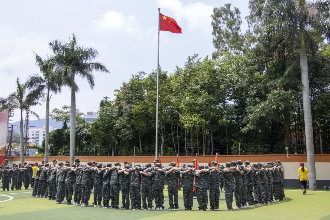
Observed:
[[[188,28],[190,30],[202,30],[205,34],[212,31],[211,27],[211,15],[213,13],[214,6],[205,5],[204,3],[188,3],[183,4],[179,0],[158,0],[159,7],[161,9],[166,9],[163,13],[167,16],[167,10],[171,10],[173,13],[173,18],[176,19],[180,25],[180,20],[186,20]],[[161,11],[162,12],[162,11]],[[182,26],[181,26],[182,27]],[[184,33],[184,28],[182,27],[182,32]]]

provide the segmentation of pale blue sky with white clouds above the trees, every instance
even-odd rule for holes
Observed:
[[[183,66],[189,55],[211,56],[211,14],[214,7],[231,3],[240,9],[242,31],[247,24],[248,0],[223,1],[3,1],[0,8],[0,96],[15,90],[17,77],[21,81],[34,73],[33,51],[45,57],[51,54],[48,42],[52,39],[69,40],[72,33],[80,45],[95,47],[96,59],[110,74],[95,73],[95,88],[78,79],[77,108],[86,113],[97,111],[104,96],[113,98],[114,89],[138,71],[149,73],[157,67],[158,10],[176,19],[183,34],[160,32],[160,65],[172,73]],[[70,105],[70,90],[53,95],[50,110]],[[41,118],[45,117],[45,103],[33,107]],[[35,119],[31,117],[31,119]],[[19,120],[18,111],[14,121]]]

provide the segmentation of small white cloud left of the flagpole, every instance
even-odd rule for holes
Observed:
[[[133,15],[126,17],[120,12],[111,10],[102,15],[102,20],[96,20],[95,22],[100,29],[122,29],[126,34],[139,39],[142,38],[141,27],[136,23],[136,18]]]

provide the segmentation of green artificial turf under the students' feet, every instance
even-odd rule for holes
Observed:
[[[269,205],[259,205],[248,207],[246,209],[225,211],[226,202],[224,193],[220,193],[219,211],[198,211],[197,200],[194,199],[193,211],[184,211],[182,191],[179,191],[179,206],[181,210],[170,211],[167,209],[168,193],[164,190],[165,210],[164,211],[144,211],[144,210],[113,210],[94,207],[81,207],[66,204],[55,204],[55,201],[49,201],[44,198],[32,198],[32,190],[14,190],[0,191],[0,219],[15,220],[38,220],[50,219],[330,219],[330,191],[308,191],[303,195],[301,190],[286,190],[286,200],[280,203]],[[1,196],[7,195],[14,199]],[[89,203],[93,202],[91,194]],[[233,206],[235,200],[233,201]],[[119,198],[119,207],[121,206],[121,195]],[[210,207],[210,205],[208,205]],[[183,209],[183,210],[182,210]]]

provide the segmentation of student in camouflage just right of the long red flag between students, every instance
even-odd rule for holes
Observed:
[[[207,189],[209,185],[211,170],[205,169],[204,165],[199,165],[199,170],[195,173],[194,186],[197,188],[197,202],[200,211],[206,211],[208,204]]]

